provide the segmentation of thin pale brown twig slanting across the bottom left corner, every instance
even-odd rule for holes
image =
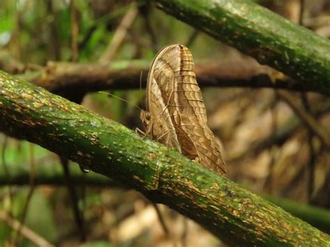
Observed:
[[[16,221],[1,209],[0,209],[0,221],[5,222],[7,225],[10,226],[10,228],[13,228],[14,230],[20,230],[22,236],[26,237],[26,239],[29,239],[33,244],[36,244],[37,246],[42,246],[42,247],[53,246],[52,244],[49,244],[49,242],[46,239],[42,238],[36,232],[33,232],[33,230],[31,230],[30,228],[27,228],[25,225],[22,225],[22,223]]]

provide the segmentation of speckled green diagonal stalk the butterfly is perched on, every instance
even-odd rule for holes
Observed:
[[[4,72],[0,112],[0,131],[136,189],[229,244],[330,244],[329,235],[178,151]]]

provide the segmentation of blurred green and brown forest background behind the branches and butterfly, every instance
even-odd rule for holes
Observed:
[[[329,1],[258,2],[330,37]],[[148,1],[3,0],[0,69],[22,74],[38,70],[48,61],[100,63],[120,22],[132,8],[137,9],[136,17],[112,58],[117,66],[118,61],[150,63],[161,47],[173,43],[187,45],[196,63],[253,62],[153,8]],[[135,106],[144,107],[144,90],[109,93],[88,93],[81,104],[127,127],[141,128]],[[231,180],[256,193],[330,208],[329,148],[301,123],[276,90],[203,88],[203,97],[209,125],[221,140]],[[315,93],[290,93],[290,97],[329,130],[329,98]],[[155,210],[139,193],[100,175],[81,173],[73,163],[69,164],[70,177],[65,178],[56,154],[26,141],[1,134],[0,145],[0,210],[47,242],[56,246],[173,244],[175,237],[166,237]],[[75,196],[70,183],[75,185]],[[178,234],[175,241],[179,244],[219,246],[219,240],[198,225],[182,223],[182,216],[161,209],[171,231]],[[8,226],[8,218],[0,217],[1,246],[36,246],[37,242],[17,233]]]

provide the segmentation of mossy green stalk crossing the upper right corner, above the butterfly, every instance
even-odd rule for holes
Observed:
[[[330,42],[247,0],[152,0],[169,15],[330,95]]]

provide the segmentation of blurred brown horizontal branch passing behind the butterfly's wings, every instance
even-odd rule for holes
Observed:
[[[65,96],[65,93],[88,93],[109,89],[139,88],[141,72],[142,86],[146,86],[147,61],[97,65],[91,63],[49,62],[42,70],[26,72],[19,78],[26,79],[47,90]],[[116,69],[120,67],[120,69]],[[198,84],[201,87],[249,87],[285,88],[289,90],[313,90],[302,86],[288,77],[274,78],[274,70],[254,61],[221,61],[197,64],[195,67]]]

